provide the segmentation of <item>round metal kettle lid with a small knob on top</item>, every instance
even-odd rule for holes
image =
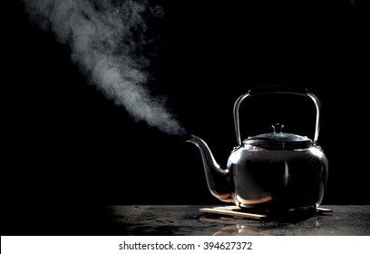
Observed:
[[[283,124],[277,123],[272,127],[274,132],[248,137],[243,143],[270,150],[304,149],[313,145],[312,140],[308,139],[307,136],[281,132]]]

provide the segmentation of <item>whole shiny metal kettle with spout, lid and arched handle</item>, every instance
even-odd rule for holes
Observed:
[[[248,97],[264,94],[307,96],[316,106],[314,140],[282,132],[284,125],[273,125],[273,132],[249,136],[241,141],[239,106]],[[307,89],[279,87],[251,89],[234,104],[234,125],[238,146],[232,149],[227,169],[214,159],[206,142],[195,135],[188,141],[200,149],[206,181],[214,197],[232,202],[241,209],[297,210],[317,207],[326,189],[328,161],[317,145],[321,104]]]

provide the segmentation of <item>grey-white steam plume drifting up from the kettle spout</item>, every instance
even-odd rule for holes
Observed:
[[[134,0],[24,0],[31,19],[71,48],[72,60],[89,81],[136,121],[145,121],[169,134],[184,132],[145,86],[143,71],[149,59],[139,50],[146,42],[146,1]],[[160,7],[152,15],[162,15]]]

